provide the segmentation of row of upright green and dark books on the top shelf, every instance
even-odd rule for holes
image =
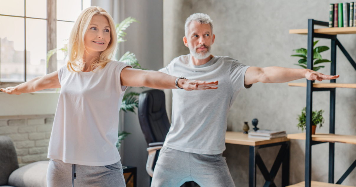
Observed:
[[[329,27],[355,27],[356,2],[330,4]]]

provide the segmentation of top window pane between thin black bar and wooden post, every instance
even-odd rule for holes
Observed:
[[[26,17],[47,18],[47,0],[26,0]]]

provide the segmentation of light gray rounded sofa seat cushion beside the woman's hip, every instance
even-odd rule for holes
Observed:
[[[38,161],[22,166],[11,173],[9,185],[16,187],[47,187],[49,161]]]

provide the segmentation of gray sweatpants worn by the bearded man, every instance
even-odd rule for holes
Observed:
[[[200,187],[235,187],[222,154],[194,154],[163,146],[151,187],[179,187],[187,181]]]

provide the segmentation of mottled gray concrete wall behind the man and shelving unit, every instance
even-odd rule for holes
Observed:
[[[184,21],[193,13],[209,14],[214,21],[215,43],[213,55],[226,55],[251,66],[282,66],[298,68],[293,65],[298,58],[290,57],[293,49],[307,48],[307,36],[289,34],[289,29],[307,28],[308,18],[328,21],[329,3],[342,2],[325,0],[169,0],[164,1],[164,65],[173,58],[188,54],[183,44]],[[350,55],[356,59],[355,34],[337,36]],[[330,41],[321,39],[318,45],[330,47]],[[330,50],[321,53],[330,59]],[[337,82],[355,83],[356,71],[345,56],[337,49]],[[329,65],[320,70],[330,73]],[[294,82],[305,82],[297,80]],[[327,81],[324,81],[327,82]],[[336,91],[336,133],[355,135],[356,100],[355,89]],[[314,109],[325,110],[325,125],[318,132],[328,133],[329,93],[314,93]],[[287,83],[256,83],[251,89],[239,93],[228,117],[228,129],[242,131],[244,121],[258,118],[262,129],[287,130],[299,133],[297,115],[306,105],[306,89],[288,87]],[[304,181],[305,141],[292,140],[290,150],[290,184]],[[355,145],[335,144],[335,181],[347,170],[356,158]],[[272,166],[278,149],[261,150],[267,168]],[[328,144],[313,146],[312,180],[328,182]],[[226,144],[224,155],[236,186],[248,186],[248,146]],[[281,186],[279,171],[276,184]],[[343,185],[356,185],[356,172],[346,178]],[[263,185],[263,177],[257,171],[257,186]]]

